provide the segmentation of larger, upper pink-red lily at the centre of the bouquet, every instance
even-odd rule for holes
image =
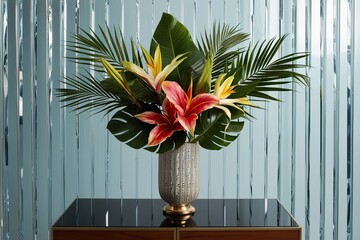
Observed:
[[[202,93],[192,97],[192,83],[187,93],[180,87],[177,82],[164,81],[162,88],[177,111],[180,124],[192,136],[194,135],[196,119],[198,114],[213,108],[219,100],[216,96],[209,93]]]

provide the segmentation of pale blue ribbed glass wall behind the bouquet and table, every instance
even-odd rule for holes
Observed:
[[[0,236],[49,239],[76,197],[159,198],[157,155],[119,143],[107,118],[61,108],[80,69],[64,43],[120,27],[148,48],[163,12],[200,36],[214,21],[253,42],[289,34],[311,87],[255,109],[238,140],[201,152],[200,198],[278,198],[305,240],[360,239],[360,2],[355,0],[0,0]],[[265,106],[264,105],[264,106]]]

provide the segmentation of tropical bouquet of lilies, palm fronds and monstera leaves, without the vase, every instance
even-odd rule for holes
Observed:
[[[68,43],[71,59],[94,71],[66,76],[58,94],[79,112],[114,113],[108,130],[135,149],[163,153],[198,142],[219,150],[237,138],[255,101],[278,101],[269,93],[309,83],[297,71],[307,65],[296,63],[308,53],[277,57],[286,36],[246,45],[249,35],[237,26],[215,23],[194,42],[164,13],[148,52],[119,30],[100,30],[83,30]]]

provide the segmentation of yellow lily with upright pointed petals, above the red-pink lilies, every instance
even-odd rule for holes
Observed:
[[[165,81],[166,77],[175,70],[179,64],[185,60],[185,54],[177,55],[171,63],[166,65],[164,69],[162,69],[162,58],[161,58],[161,51],[160,46],[158,45],[154,58],[150,56],[150,54],[144,49],[141,48],[146,60],[146,66],[148,67],[148,72],[145,72],[144,69],[137,66],[132,62],[124,61],[122,65],[130,72],[138,75],[143,80],[147,82],[157,93],[161,91],[161,84]]]

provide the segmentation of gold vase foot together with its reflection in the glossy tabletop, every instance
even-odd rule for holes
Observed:
[[[164,216],[174,224],[186,224],[186,222],[194,215],[194,213],[195,208],[190,204],[166,204],[163,207]]]

